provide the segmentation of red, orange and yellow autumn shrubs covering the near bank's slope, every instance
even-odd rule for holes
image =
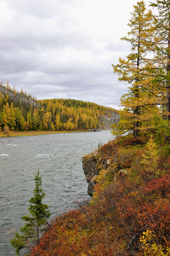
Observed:
[[[156,170],[155,147],[153,137],[125,137],[91,154],[99,168],[91,201],[48,224],[31,255],[169,255],[170,157],[160,154],[169,146],[156,149]]]

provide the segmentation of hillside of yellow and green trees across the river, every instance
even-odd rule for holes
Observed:
[[[41,100],[0,85],[0,129],[3,131],[88,131],[99,129],[99,117],[116,113],[90,102]]]

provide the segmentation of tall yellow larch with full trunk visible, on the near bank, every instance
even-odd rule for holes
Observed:
[[[147,129],[144,128],[144,124],[147,126],[150,113],[156,105],[153,93],[155,89],[151,86],[152,78],[149,73],[149,67],[153,65],[150,51],[153,48],[155,28],[152,25],[152,12],[146,11],[144,1],[138,2],[133,8],[131,19],[127,24],[130,32],[128,37],[122,38],[131,44],[132,52],[126,59],[120,58],[119,64],[112,65],[119,80],[129,84],[127,94],[121,99],[125,108],[120,112],[119,124],[113,125],[113,133],[133,131],[133,136],[138,137],[139,131]]]

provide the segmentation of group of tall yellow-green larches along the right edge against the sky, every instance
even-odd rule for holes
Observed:
[[[162,131],[162,127],[167,127],[167,134],[169,122],[160,123],[170,120],[169,0],[152,0],[149,8],[144,1],[138,1],[127,26],[127,36],[121,40],[129,44],[130,52],[112,65],[118,80],[128,85],[113,134],[133,132],[134,137],[139,137],[160,128]]]

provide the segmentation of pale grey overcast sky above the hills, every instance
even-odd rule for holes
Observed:
[[[120,38],[136,3],[0,0],[0,83],[37,99],[74,98],[116,108],[127,88],[111,63],[129,53]]]

